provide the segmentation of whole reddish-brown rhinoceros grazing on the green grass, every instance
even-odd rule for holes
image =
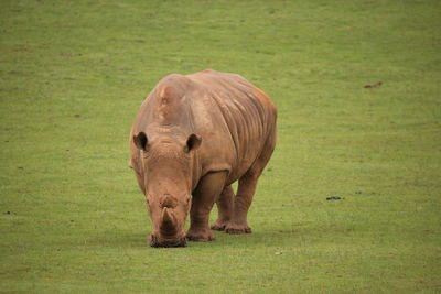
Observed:
[[[211,229],[251,232],[247,214],[275,150],[276,118],[271,99],[236,74],[206,69],[159,81],[130,131],[130,167],[152,220],[151,247],[211,241]],[[209,227],[215,203],[218,218]]]

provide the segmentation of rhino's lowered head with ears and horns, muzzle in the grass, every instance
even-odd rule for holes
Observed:
[[[185,219],[192,200],[194,151],[201,144],[196,134],[133,134],[139,152],[133,168],[146,195],[152,220],[151,247],[185,247]]]

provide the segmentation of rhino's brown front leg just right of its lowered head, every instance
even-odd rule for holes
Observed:
[[[190,229],[186,238],[192,241],[214,240],[209,230],[208,218],[214,203],[219,197],[225,186],[226,173],[217,172],[205,175],[193,193],[192,208],[190,210]]]

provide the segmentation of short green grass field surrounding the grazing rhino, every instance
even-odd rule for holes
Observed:
[[[440,293],[440,15],[437,0],[1,1],[0,292]],[[279,109],[254,233],[153,249],[129,130],[160,78],[205,68]]]

